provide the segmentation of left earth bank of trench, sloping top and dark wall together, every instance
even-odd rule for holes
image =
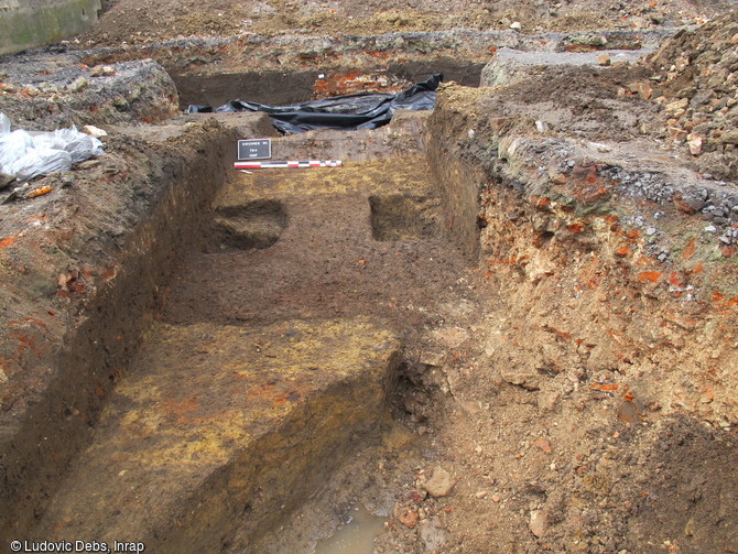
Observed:
[[[207,205],[232,140],[213,123],[165,149],[117,133],[100,160],[35,180],[46,194],[0,206],[3,541],[28,536],[89,441],[174,252],[202,236],[181,217]]]

